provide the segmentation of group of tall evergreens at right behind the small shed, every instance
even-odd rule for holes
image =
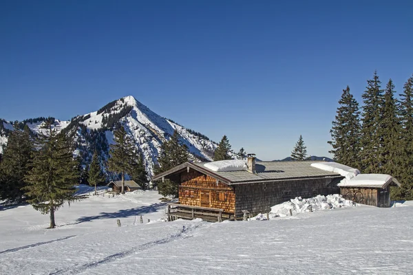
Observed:
[[[399,98],[395,94],[392,80],[382,89],[374,72],[360,112],[350,88],[344,89],[328,143],[335,161],[399,179],[401,188],[392,188],[392,199],[413,199],[413,76]]]

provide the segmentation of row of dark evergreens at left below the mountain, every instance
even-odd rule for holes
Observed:
[[[50,215],[54,228],[54,213],[64,203],[85,199],[77,195],[75,186],[80,183],[95,187],[105,184],[103,159],[95,151],[86,167],[74,157],[70,138],[54,127],[54,118],[45,119],[42,131],[32,137],[27,125],[14,124],[7,146],[0,157],[0,199],[11,203],[27,201],[42,214]],[[147,184],[147,172],[142,154],[131,142],[123,125],[114,131],[114,144],[110,145],[107,166],[119,174],[122,192],[125,192],[125,174],[140,184]],[[107,172],[109,172],[107,171]]]

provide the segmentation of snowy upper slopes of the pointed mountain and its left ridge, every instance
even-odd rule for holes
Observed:
[[[3,123],[0,125],[0,147],[6,144],[7,132],[12,129],[12,124],[3,120],[0,124],[1,122]],[[43,120],[25,122],[34,133],[42,131],[43,123]],[[76,155],[81,155],[85,162],[89,161],[95,149],[103,158],[107,157],[109,144],[113,143],[114,128],[119,123],[125,124],[125,129],[134,140],[136,148],[144,155],[150,174],[153,174],[153,165],[157,162],[162,142],[169,140],[174,130],[179,131],[182,142],[188,146],[195,161],[211,160],[217,146],[208,137],[162,118],[133,96],[110,102],[98,111],[78,115],[71,121],[55,120],[59,131],[65,131],[72,137]]]

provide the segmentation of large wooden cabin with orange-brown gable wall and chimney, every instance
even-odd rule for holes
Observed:
[[[249,171],[216,172],[203,163],[187,162],[152,180],[170,179],[179,185],[179,203],[171,205],[179,217],[191,219],[204,213],[216,221],[218,213],[223,219],[240,219],[245,210],[265,213],[295,197],[338,193],[337,184],[343,177],[311,163],[255,162],[255,157],[248,157]]]

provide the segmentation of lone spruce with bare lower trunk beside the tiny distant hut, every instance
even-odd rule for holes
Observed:
[[[120,173],[122,177],[121,193],[125,194],[125,174],[131,170],[132,157],[134,155],[134,144],[127,134],[125,126],[118,126],[114,131],[114,142],[110,144],[109,160],[107,165],[109,170]]]

